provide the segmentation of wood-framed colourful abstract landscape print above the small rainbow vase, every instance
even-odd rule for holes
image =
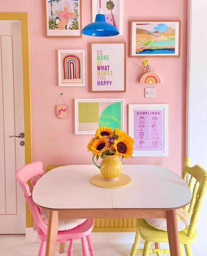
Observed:
[[[131,57],[180,57],[181,21],[131,21]]]

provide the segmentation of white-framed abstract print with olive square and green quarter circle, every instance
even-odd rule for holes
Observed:
[[[95,134],[100,126],[124,127],[124,99],[75,99],[75,134]]]

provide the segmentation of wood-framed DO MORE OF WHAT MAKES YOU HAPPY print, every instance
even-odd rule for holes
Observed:
[[[126,42],[91,43],[91,92],[126,92]]]

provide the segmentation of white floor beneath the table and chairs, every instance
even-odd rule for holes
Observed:
[[[129,256],[132,243],[98,243],[94,242],[95,256]],[[0,237],[0,256],[35,256],[39,250],[39,243],[25,243],[24,236],[16,237]],[[161,244],[161,247],[167,248],[166,245]],[[55,256],[67,255],[68,243],[65,246],[65,253],[58,253],[58,246],[56,248],[57,253]],[[207,256],[207,245],[203,248],[192,246],[193,256]],[[136,256],[140,256],[137,253]],[[156,256],[151,254],[150,256]],[[164,255],[164,254],[163,254]],[[166,255],[166,254],[165,254]],[[185,255],[185,254],[184,254]],[[73,246],[73,256],[82,256],[81,243],[76,241]]]

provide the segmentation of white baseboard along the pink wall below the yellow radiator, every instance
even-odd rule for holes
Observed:
[[[135,232],[92,232],[92,241],[94,243],[117,243],[117,242],[127,242],[133,243],[135,238]],[[31,235],[31,234],[29,234]],[[26,239],[27,241],[27,239]],[[33,230],[32,238],[28,241],[33,241],[33,243],[39,243],[40,240],[37,236],[37,229]],[[74,241],[75,242],[75,241]]]

